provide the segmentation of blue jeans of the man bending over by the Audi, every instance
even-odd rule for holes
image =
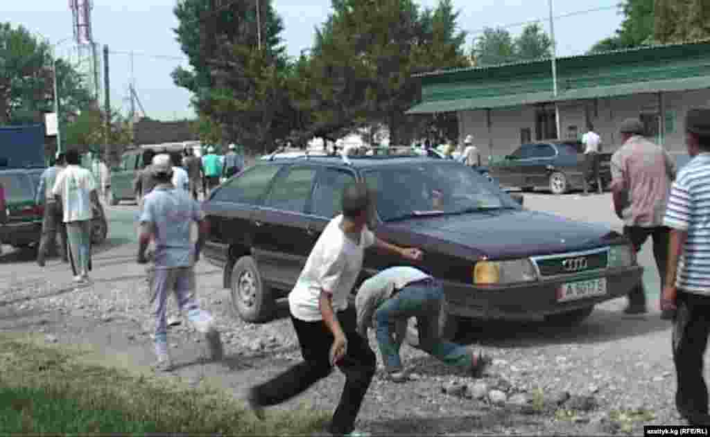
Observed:
[[[442,360],[447,365],[463,367],[473,365],[471,351],[456,343],[442,341],[439,337],[439,311],[442,311],[444,289],[441,284],[412,284],[404,287],[375,311],[377,343],[388,372],[402,370],[399,351],[403,338],[393,339],[398,322],[406,323],[417,318],[420,348]]]

